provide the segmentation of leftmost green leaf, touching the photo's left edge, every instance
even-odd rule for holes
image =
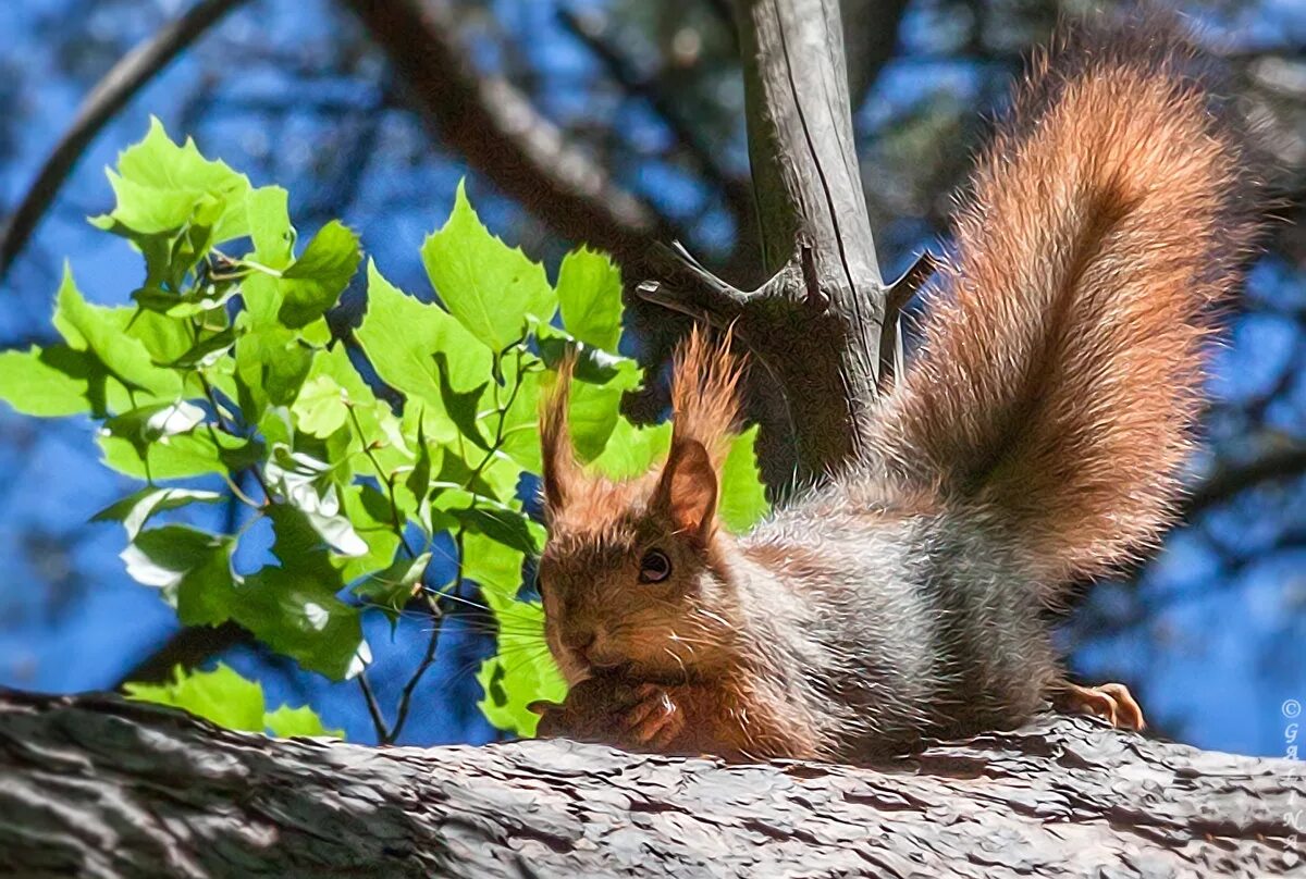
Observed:
[[[98,358],[67,345],[0,351],[0,400],[25,415],[40,418],[97,414],[104,409],[107,375]],[[93,385],[98,388],[95,394]]]

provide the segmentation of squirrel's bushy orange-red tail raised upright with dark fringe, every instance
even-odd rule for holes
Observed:
[[[1192,55],[1155,29],[1074,40],[1034,60],[981,159],[870,445],[991,512],[1050,586],[1166,524],[1205,316],[1252,238],[1242,141]]]

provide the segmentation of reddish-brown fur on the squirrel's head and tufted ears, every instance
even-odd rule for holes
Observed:
[[[709,569],[724,563],[716,551],[717,468],[729,449],[739,381],[739,366],[727,353],[729,344],[729,334],[721,345],[713,345],[695,330],[677,351],[669,461],[635,479],[613,482],[582,471],[576,462],[567,431],[569,360],[543,400],[541,438],[550,534],[541,577],[542,583],[555,584],[545,590],[546,611],[551,611],[546,613],[546,636],[572,680],[589,671],[568,649],[568,641],[590,632],[597,632],[594,650],[599,660],[619,653],[637,661],[650,677],[700,678],[696,663],[705,660],[712,660],[714,670],[722,666],[718,653],[701,647],[679,656],[666,653],[663,644],[670,632],[692,641],[710,635],[725,649],[729,609],[704,606],[703,619],[709,619],[710,613],[713,630],[705,632],[701,620],[669,619],[667,602],[656,589],[635,586],[640,556],[650,547],[673,558],[677,580],[710,576]],[[552,605],[564,594],[565,611]],[[619,614],[614,613],[616,605]],[[609,624],[609,616],[620,622]],[[714,631],[718,626],[722,631]]]

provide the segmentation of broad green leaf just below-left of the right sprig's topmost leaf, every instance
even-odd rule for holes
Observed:
[[[358,341],[381,380],[410,405],[421,402],[427,436],[453,443],[460,432],[444,413],[441,383],[457,393],[482,387],[494,364],[490,351],[439,306],[400,293],[374,264],[367,266],[367,315]]]

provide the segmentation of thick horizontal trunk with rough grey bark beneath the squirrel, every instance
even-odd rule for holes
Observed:
[[[1306,777],[1049,717],[875,769],[568,741],[366,748],[0,692],[22,876],[1306,875]]]

